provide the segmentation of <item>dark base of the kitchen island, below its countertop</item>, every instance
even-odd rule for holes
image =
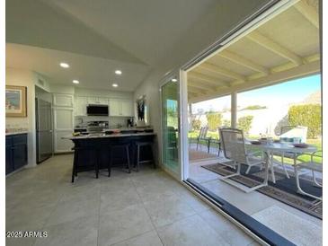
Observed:
[[[77,172],[94,170],[97,162],[100,170],[108,169],[111,162],[111,167],[127,167],[128,156],[125,149],[120,147],[120,145],[125,144],[129,144],[129,160],[131,168],[133,168],[137,163],[136,143],[153,142],[154,137],[155,135],[72,139],[75,144],[75,170]],[[112,151],[111,148],[113,148]],[[153,151],[150,145],[141,148],[139,159],[140,161],[153,159]]]

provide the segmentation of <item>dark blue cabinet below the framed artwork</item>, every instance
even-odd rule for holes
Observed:
[[[27,163],[27,134],[5,136],[5,174]]]

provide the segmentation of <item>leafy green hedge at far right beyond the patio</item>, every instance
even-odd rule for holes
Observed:
[[[320,104],[291,106],[288,110],[289,125],[307,127],[307,137],[316,138],[322,134],[321,110]]]

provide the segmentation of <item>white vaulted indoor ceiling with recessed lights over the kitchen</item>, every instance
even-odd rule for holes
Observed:
[[[176,66],[267,2],[6,0],[6,66],[56,83],[77,78],[81,87],[107,89],[116,80],[118,90],[133,91],[155,67]],[[114,76],[119,68],[123,75]]]

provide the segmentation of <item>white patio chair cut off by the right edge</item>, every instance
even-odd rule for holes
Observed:
[[[294,165],[294,171],[295,171],[295,179],[297,181],[297,192],[302,195],[306,195],[310,198],[323,200],[323,198],[316,197],[315,195],[309,194],[306,191],[304,191],[301,188],[300,181],[299,181],[299,176],[304,175],[308,172],[312,172],[312,181],[313,181],[314,185],[317,187],[323,187],[323,184],[320,184],[315,178],[315,171],[323,173],[323,163],[317,163],[314,161],[315,156],[323,157],[322,154],[319,154],[319,153],[322,153],[322,151],[316,151],[312,154],[307,154],[307,155],[311,156],[311,160],[309,162],[304,162],[304,161],[300,160],[299,158],[297,158],[297,161],[299,163],[296,162],[296,164]],[[302,155],[306,155],[306,154],[302,154]],[[301,172],[301,171],[303,171],[303,172]]]

